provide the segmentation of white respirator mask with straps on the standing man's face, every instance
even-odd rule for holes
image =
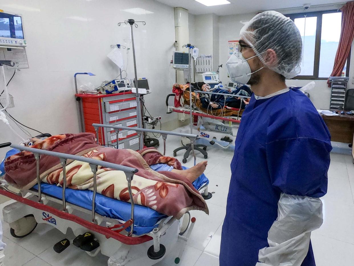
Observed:
[[[235,51],[232,56],[226,62],[226,68],[229,72],[230,79],[233,82],[237,82],[240,84],[247,84],[249,82],[251,75],[261,70],[264,67],[259,68],[258,70],[252,72],[250,65],[247,60],[252,59],[252,56],[248,59],[245,59],[239,51]]]

